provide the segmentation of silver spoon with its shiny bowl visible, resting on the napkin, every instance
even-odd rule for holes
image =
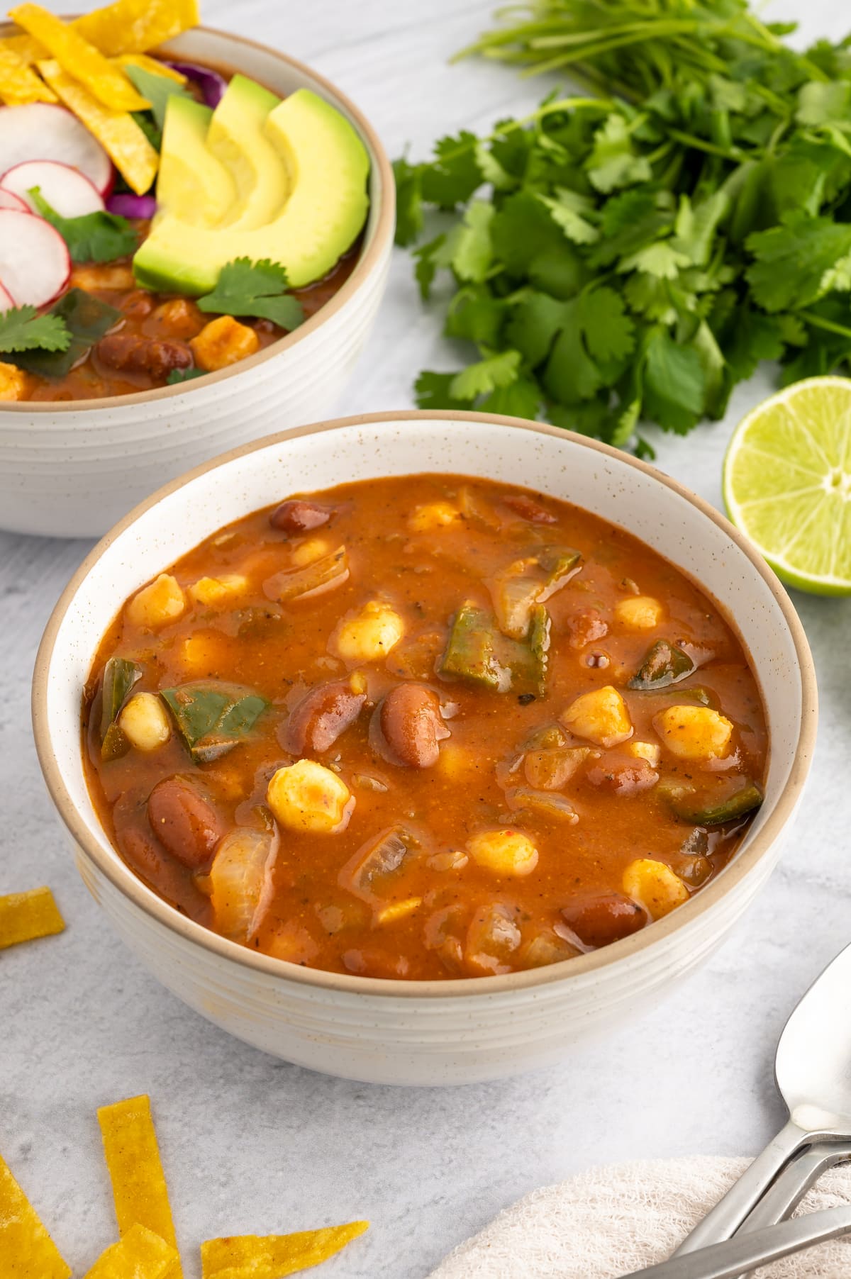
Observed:
[[[774,1077],[788,1106],[788,1122],[680,1244],[674,1257],[729,1239],[804,1147],[845,1142],[843,1152],[847,1152],[851,1140],[850,990],[851,946],[846,946],[804,995],[777,1045]],[[800,1198],[813,1181],[811,1159],[797,1168],[792,1164],[783,1175],[786,1201],[797,1202],[795,1195]]]

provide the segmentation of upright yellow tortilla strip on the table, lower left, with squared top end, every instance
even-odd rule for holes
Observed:
[[[151,1119],[150,1097],[128,1097],[97,1111],[122,1237],[143,1225],[174,1250],[164,1279],[182,1279],[169,1189]]]

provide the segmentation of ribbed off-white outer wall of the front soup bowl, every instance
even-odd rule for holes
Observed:
[[[709,912],[640,955],[529,990],[393,998],[301,986],[252,972],[164,927],[78,847],[83,883],[137,958],[174,995],[255,1048],[367,1083],[477,1083],[564,1060],[667,995],[720,944],[779,856],[775,843]]]

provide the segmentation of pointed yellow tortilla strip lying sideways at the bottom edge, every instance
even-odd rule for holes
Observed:
[[[201,1244],[202,1279],[284,1279],[328,1261],[369,1229],[369,1221],[297,1234],[234,1234]]]

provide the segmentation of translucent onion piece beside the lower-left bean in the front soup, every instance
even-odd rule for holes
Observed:
[[[216,931],[243,945],[269,908],[278,856],[278,831],[237,826],[216,848],[209,888]]]

